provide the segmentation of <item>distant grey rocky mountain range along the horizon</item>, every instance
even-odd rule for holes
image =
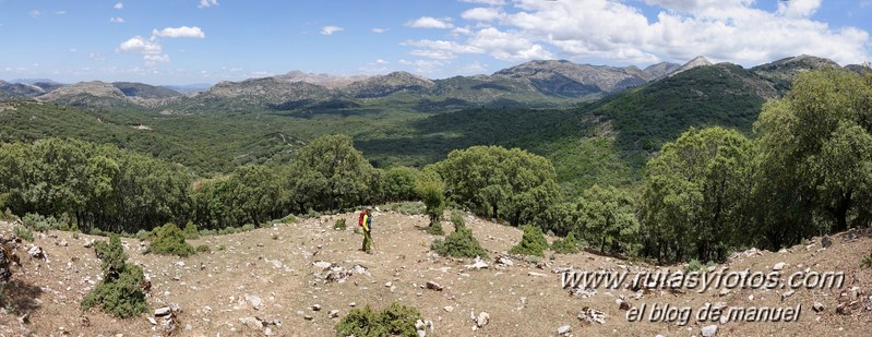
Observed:
[[[390,105],[416,111],[471,107],[554,108],[594,100],[626,88],[713,65],[704,57],[685,64],[661,62],[645,68],[576,64],[565,60],[529,61],[491,75],[430,80],[407,72],[333,76],[291,71],[287,74],[203,85],[154,86],[130,82],[81,82],[63,85],[46,79],[0,81],[0,100],[36,99],[79,107],[141,106],[166,115],[250,110],[311,111]],[[764,81],[781,93],[798,73],[840,68],[828,59],[798,56],[753,67],[745,81]],[[859,71],[861,65],[847,65]],[[175,89],[174,89],[175,88]],[[201,91],[196,91],[196,89]],[[182,93],[184,92],[184,93]],[[761,93],[762,95],[768,95]]]

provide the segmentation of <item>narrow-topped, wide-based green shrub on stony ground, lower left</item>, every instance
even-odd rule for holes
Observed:
[[[112,236],[109,242],[95,243],[94,250],[103,261],[104,279],[82,300],[82,309],[103,305],[104,312],[121,318],[145,312],[142,268],[127,263],[128,255],[118,236]]]

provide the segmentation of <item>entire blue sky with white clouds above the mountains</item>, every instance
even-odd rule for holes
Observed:
[[[0,0],[0,79],[490,74],[529,60],[872,60],[872,0]]]

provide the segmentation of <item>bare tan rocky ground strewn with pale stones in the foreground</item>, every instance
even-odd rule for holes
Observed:
[[[393,301],[413,305],[432,328],[427,336],[861,336],[872,330],[872,270],[860,268],[872,246],[868,232],[822,238],[780,252],[733,254],[712,270],[785,275],[797,270],[844,272],[837,289],[733,289],[706,292],[654,289],[563,289],[560,272],[683,269],[590,253],[525,261],[505,252],[521,239],[516,228],[467,217],[467,226],[490,258],[478,263],[439,257],[423,216],[382,213],[375,217],[374,254],[360,251],[354,227],[337,231],[336,219],[357,224],[355,214],[191,240],[211,253],[188,258],[143,254],[145,243],[122,239],[131,261],[151,279],[147,314],[116,320],[98,310],[82,312],[81,299],[99,281],[93,248],[100,237],[51,231],[15,248],[22,265],[12,268],[0,335],[152,336],[176,324],[180,336],[331,336],[354,308],[382,309]],[[443,225],[453,230],[449,222]],[[13,224],[0,222],[9,237]],[[831,243],[832,242],[832,243]],[[41,254],[40,254],[41,251]],[[33,254],[32,254],[33,253]],[[548,253],[550,255],[550,253]],[[798,322],[650,322],[656,304],[691,308],[796,308]],[[647,308],[641,322],[628,313]],[[169,310],[167,308],[172,308]]]

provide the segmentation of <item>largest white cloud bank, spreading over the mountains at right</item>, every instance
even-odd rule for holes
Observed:
[[[781,1],[773,10],[760,8],[754,0],[642,0],[660,9],[648,16],[633,1],[483,1],[513,8],[466,10],[458,13],[461,17],[479,21],[478,25],[449,34],[445,40],[404,45],[415,47],[410,53],[434,60],[444,59],[446,52],[489,55],[506,61],[559,55],[578,61],[608,59],[640,65],[682,62],[697,55],[743,65],[801,53],[843,64],[870,59],[869,32],[832,27],[812,19],[821,0]],[[421,21],[418,26],[450,24],[434,21]]]

